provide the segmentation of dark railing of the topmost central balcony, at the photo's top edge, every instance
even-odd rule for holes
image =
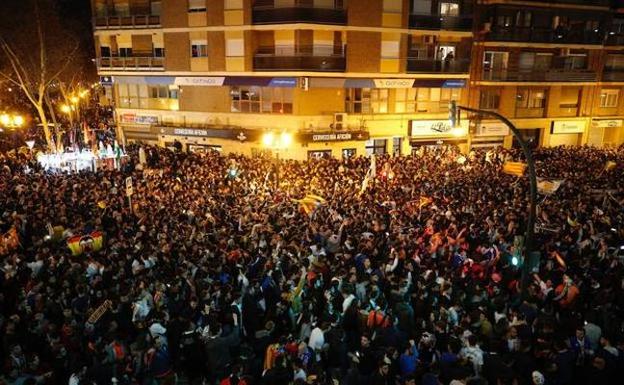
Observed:
[[[306,5],[279,7],[274,5],[255,6],[252,13],[253,24],[315,23],[347,24],[344,8],[319,8]]]

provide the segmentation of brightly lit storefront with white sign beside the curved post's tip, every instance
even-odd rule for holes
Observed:
[[[412,151],[421,146],[456,145],[467,151],[468,121],[451,127],[448,120],[410,120],[408,136]]]

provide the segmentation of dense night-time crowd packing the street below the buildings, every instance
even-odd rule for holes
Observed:
[[[0,230],[19,236],[0,255],[0,383],[624,375],[623,148],[535,150],[538,176],[562,183],[539,195],[527,255],[528,181],[502,171],[516,150],[422,148],[373,170],[364,157],[127,153],[121,170],[74,174],[0,155]],[[101,249],[74,255],[67,239],[94,231]]]

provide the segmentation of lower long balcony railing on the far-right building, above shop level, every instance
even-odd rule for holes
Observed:
[[[499,82],[595,82],[591,70],[534,69],[532,71],[483,71],[482,80]]]

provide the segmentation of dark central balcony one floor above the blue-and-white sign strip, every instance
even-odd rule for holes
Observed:
[[[339,46],[260,47],[254,55],[254,70],[344,72],[346,62]]]

